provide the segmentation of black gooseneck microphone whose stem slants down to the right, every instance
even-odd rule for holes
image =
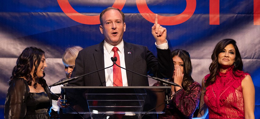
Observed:
[[[117,60],[117,57],[115,56],[113,59],[114,59],[115,61],[113,61],[113,60],[112,60],[112,57],[111,57],[111,60],[114,62],[114,64],[115,64],[116,66],[119,66],[119,65],[117,65],[117,64],[115,63],[116,60]],[[123,68],[123,67],[121,67],[121,66],[119,66],[119,67],[122,68],[122,69],[125,69],[125,68]],[[138,75],[140,75],[140,76],[145,76],[145,75],[139,74],[139,73],[137,73],[137,72],[131,71],[131,70],[129,70],[129,69],[125,69],[125,70],[130,71],[130,72],[133,72],[133,73],[138,74]],[[151,76],[145,76],[145,77],[152,78],[152,79],[154,79],[154,80],[163,82],[163,83],[165,83],[165,84],[174,85],[174,86],[178,86],[178,87],[181,88],[180,85],[178,85],[178,84],[176,84],[176,83],[174,83],[174,82],[168,81],[168,80],[166,80],[166,79],[160,79],[160,78],[151,77]]]

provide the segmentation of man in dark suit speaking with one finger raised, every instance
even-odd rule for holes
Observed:
[[[111,57],[114,53],[113,47],[117,47],[120,64],[126,69],[132,70],[142,75],[156,76],[169,79],[173,75],[174,64],[171,51],[168,48],[166,38],[166,28],[157,24],[152,27],[152,34],[156,40],[158,59],[145,46],[127,43],[122,39],[126,24],[124,13],[109,7],[100,14],[100,32],[105,40],[97,45],[93,45],[81,50],[76,58],[76,66],[72,72],[72,77],[93,72],[112,65]],[[81,77],[70,86],[113,86],[112,67],[101,70],[93,74]],[[122,72],[122,86],[149,86],[148,78],[135,73]]]

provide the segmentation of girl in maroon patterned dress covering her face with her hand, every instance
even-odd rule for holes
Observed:
[[[199,105],[201,86],[191,77],[190,54],[185,50],[177,49],[172,52],[172,56],[174,74],[171,81],[182,86],[183,89],[171,85],[174,96],[171,98],[170,105],[167,105],[165,114],[159,114],[159,119],[191,119]],[[161,82],[154,84],[154,86],[161,85],[163,85]]]

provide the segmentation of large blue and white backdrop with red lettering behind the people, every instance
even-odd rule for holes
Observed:
[[[235,39],[244,70],[251,74],[255,85],[255,117],[260,118],[260,0],[3,0],[0,2],[0,118],[3,118],[9,87],[7,81],[22,50],[34,46],[46,52],[45,79],[51,85],[65,77],[61,57],[67,47],[88,47],[104,39],[99,31],[99,19],[88,16],[99,15],[112,5],[125,13],[123,39],[145,45],[155,55],[153,23],[149,21],[154,14],[143,14],[142,10],[147,5],[145,11],[159,14],[158,22],[167,28],[170,49],[190,53],[192,76],[199,83],[209,73],[210,56],[216,43],[225,38]],[[190,6],[186,8],[187,5]],[[187,14],[182,14],[185,9]]]

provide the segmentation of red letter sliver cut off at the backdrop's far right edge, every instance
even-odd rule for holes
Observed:
[[[260,25],[260,0],[254,0],[254,25]]]

